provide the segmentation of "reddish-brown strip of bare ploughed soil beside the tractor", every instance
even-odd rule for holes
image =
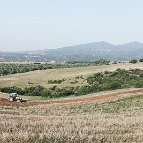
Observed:
[[[0,106],[34,106],[34,105],[40,105],[40,104],[62,104],[62,103],[76,103],[76,102],[88,102],[88,101],[95,101],[95,100],[101,100],[101,99],[107,99],[110,97],[115,97],[115,96],[121,96],[124,94],[134,94],[134,93],[143,93],[143,88],[140,89],[132,89],[132,90],[126,90],[126,91],[121,91],[118,93],[108,93],[108,94],[103,94],[99,96],[94,96],[94,97],[83,97],[83,98],[72,98],[72,99],[63,99],[63,100],[48,100],[48,101],[43,101],[43,102],[10,102],[6,99],[0,98]]]

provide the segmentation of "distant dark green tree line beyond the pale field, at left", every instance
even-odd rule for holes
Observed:
[[[72,68],[72,67],[86,67],[101,64],[109,64],[110,61],[100,60],[94,62],[66,62],[66,63],[30,63],[30,64],[15,64],[15,63],[1,63],[0,75],[25,73],[35,70],[58,69],[58,68]]]

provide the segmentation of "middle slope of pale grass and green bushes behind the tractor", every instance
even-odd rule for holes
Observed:
[[[120,63],[6,75],[0,78],[0,91],[51,99],[115,89],[142,88],[142,65]]]

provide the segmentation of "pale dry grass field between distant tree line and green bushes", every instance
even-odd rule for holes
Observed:
[[[103,72],[103,71],[114,71],[117,68],[121,69],[143,69],[143,63],[130,64],[130,63],[119,63],[111,65],[101,65],[101,66],[89,66],[89,67],[76,67],[76,68],[63,68],[63,69],[49,69],[43,71],[32,71],[21,74],[7,75],[0,77],[1,87],[5,86],[17,86],[17,87],[30,87],[41,85],[43,87],[49,88],[54,85],[59,87],[65,86],[77,86],[81,84],[86,84],[85,78],[93,73]],[[83,76],[77,79],[78,76]],[[59,80],[65,79],[61,84],[48,84],[48,80]],[[77,83],[74,83],[74,82]],[[32,84],[28,84],[32,83]],[[72,84],[74,83],[74,84]]]

